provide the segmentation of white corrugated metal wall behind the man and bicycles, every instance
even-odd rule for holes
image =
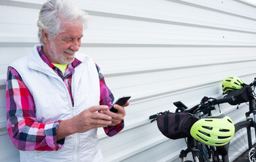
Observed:
[[[0,161],[18,161],[6,132],[7,64],[37,44],[43,1],[0,1]],[[106,161],[179,161],[185,142],[165,138],[149,115],[221,97],[221,81],[256,76],[256,6],[240,0],[74,0],[91,15],[81,52],[91,55],[114,96],[130,94],[125,130],[99,130]],[[236,123],[236,107],[223,105]]]

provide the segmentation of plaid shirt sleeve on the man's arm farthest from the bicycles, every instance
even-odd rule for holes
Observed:
[[[60,121],[37,122],[33,96],[18,72],[11,67],[7,73],[6,112],[7,132],[19,150],[57,151],[63,147],[56,141],[56,128]]]

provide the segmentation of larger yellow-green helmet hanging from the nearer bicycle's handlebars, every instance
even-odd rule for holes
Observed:
[[[193,138],[209,146],[223,146],[234,136],[234,124],[224,113],[196,121],[190,134]]]

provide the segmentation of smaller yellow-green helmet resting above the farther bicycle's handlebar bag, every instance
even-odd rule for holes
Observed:
[[[242,88],[244,81],[237,76],[228,77],[222,82],[223,94],[226,94],[228,90],[236,90]]]

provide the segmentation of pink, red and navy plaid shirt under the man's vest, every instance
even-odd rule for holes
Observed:
[[[66,68],[63,76],[62,72],[45,57],[41,47],[39,47],[38,51],[41,59],[62,78],[72,100],[70,86],[72,74],[81,61],[74,59]],[[95,66],[100,79],[100,105],[108,105],[110,107],[114,101],[114,96],[108,86],[106,86],[100,68],[97,64]],[[20,74],[12,67],[9,67],[7,72],[6,112],[7,132],[16,148],[22,151],[57,151],[64,146],[65,138],[56,141],[56,128],[58,128],[61,121],[47,124],[37,122],[33,96],[28,88],[26,88]],[[121,121],[117,126],[104,128],[104,131],[108,136],[114,136],[123,128],[124,121]]]

